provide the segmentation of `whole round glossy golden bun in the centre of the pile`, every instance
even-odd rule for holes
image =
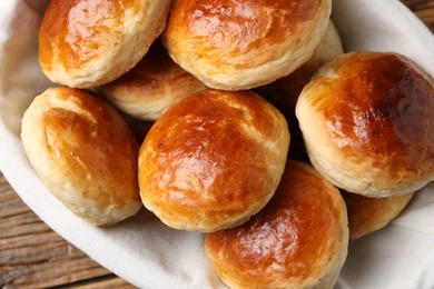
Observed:
[[[141,199],[175,229],[237,226],[274,195],[288,146],[284,116],[256,93],[194,93],[167,110],[141,144]]]

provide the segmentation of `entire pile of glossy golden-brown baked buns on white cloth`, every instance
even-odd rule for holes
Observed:
[[[344,52],[331,0],[51,1],[58,83],[22,119],[66,208],[109,226],[144,206],[231,288],[333,288],[348,239],[434,179],[434,82],[393,52]]]

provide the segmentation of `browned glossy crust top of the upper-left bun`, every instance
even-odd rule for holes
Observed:
[[[139,1],[51,1],[40,29],[41,63],[51,66],[53,47],[58,48],[58,58],[66,68],[95,59],[106,49],[106,43],[119,41],[120,31],[111,30],[121,26],[127,8],[140,9]]]

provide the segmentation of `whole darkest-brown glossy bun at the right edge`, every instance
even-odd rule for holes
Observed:
[[[312,163],[346,191],[392,197],[434,179],[434,82],[404,56],[336,58],[302,91],[296,116]]]

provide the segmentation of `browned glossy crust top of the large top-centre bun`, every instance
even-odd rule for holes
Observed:
[[[197,36],[194,44],[200,44],[204,53],[226,52],[220,56],[220,60],[216,58],[215,61],[224,62],[230,58],[237,66],[250,64],[246,60],[262,63],[276,57],[255,54],[250,59],[249,54],[262,51],[258,48],[264,44],[264,39],[267,39],[267,48],[282,46],[287,36],[295,31],[297,23],[315,16],[320,2],[323,0],[248,0],[243,3],[233,0],[180,0],[175,1],[169,29],[184,32],[186,38],[189,34]],[[245,27],[250,29],[246,30]],[[243,33],[245,31],[249,33]],[[216,66],[219,63],[216,62]]]

